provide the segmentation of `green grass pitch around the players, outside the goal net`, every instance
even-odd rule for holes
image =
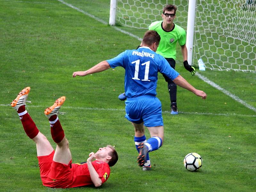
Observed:
[[[67,0],[108,22],[109,1]],[[72,77],[140,41],[120,33],[55,0],[0,0],[0,191],[255,191],[256,113],[223,92],[191,76],[177,48],[177,71],[208,94],[206,100],[178,88],[180,114],[171,116],[169,93],[159,75],[157,97],[162,102],[165,140],[150,153],[153,170],[136,163],[134,131],[124,118],[124,69],[108,69]],[[142,37],[145,30],[120,27]],[[197,70],[198,73],[198,70]],[[225,90],[256,107],[255,73],[199,72]],[[42,185],[36,147],[8,105],[25,86],[31,87],[27,110],[52,145],[44,109],[67,97],[60,122],[70,143],[74,163],[107,144],[115,145],[117,164],[100,188],[51,189]],[[148,131],[146,132],[149,138]],[[183,158],[196,152],[203,158],[198,172],[184,168]]]

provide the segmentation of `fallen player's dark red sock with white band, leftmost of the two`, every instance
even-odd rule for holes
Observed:
[[[20,116],[20,121],[23,125],[24,131],[30,139],[33,139],[38,134],[39,130],[36,127],[36,124],[31,119],[28,112],[25,110],[25,105],[20,106],[18,109],[18,114]]]

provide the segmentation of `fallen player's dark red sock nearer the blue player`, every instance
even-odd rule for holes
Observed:
[[[64,131],[61,127],[59,118],[56,115],[53,115],[49,118],[51,126],[52,139],[55,143],[59,143],[65,136]],[[57,121],[56,121],[57,120]]]

